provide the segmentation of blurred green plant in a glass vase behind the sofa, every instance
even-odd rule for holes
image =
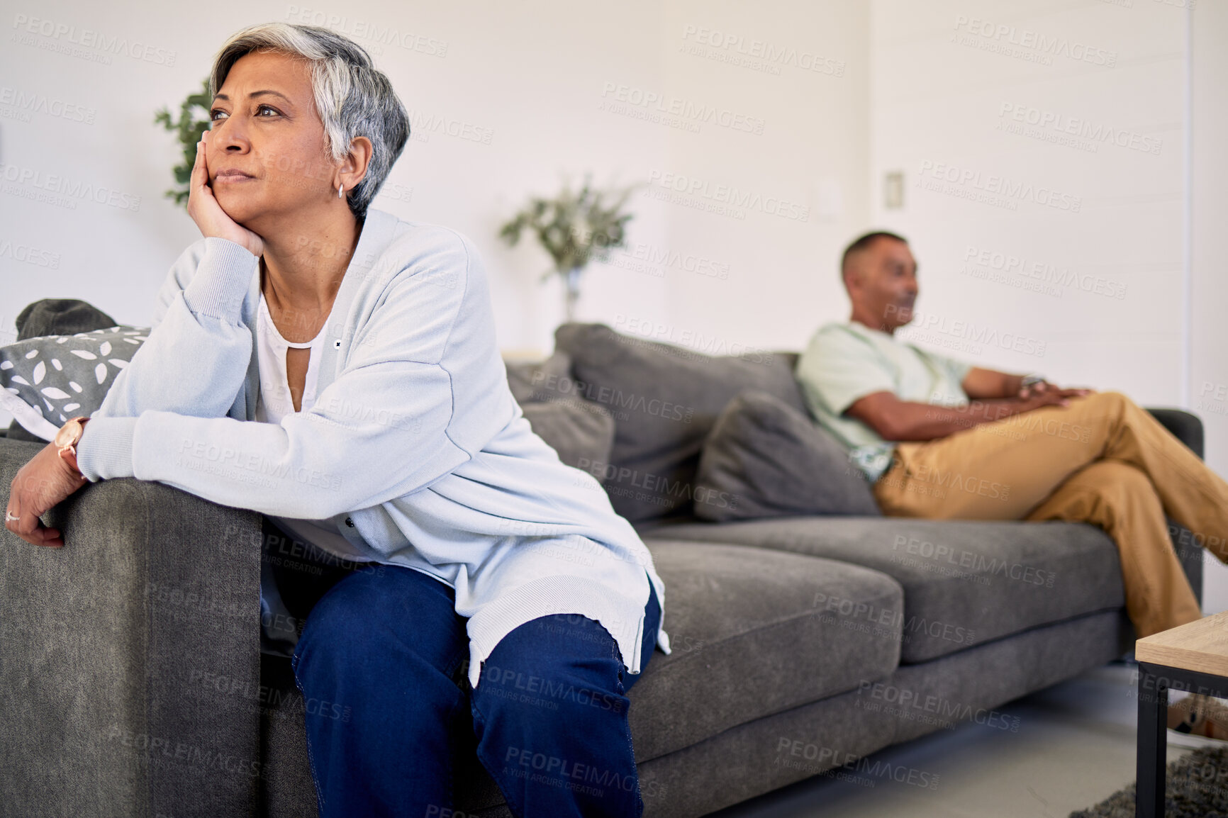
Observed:
[[[538,243],[554,260],[554,268],[543,273],[542,280],[556,274],[564,278],[567,321],[575,317],[580,273],[585,265],[593,259],[607,260],[612,248],[623,246],[626,222],[634,217],[623,212],[623,206],[637,187],[594,190],[591,174],[585,174],[578,193],[565,182],[553,199],[530,197],[529,203],[500,228],[500,237],[513,247],[526,230],[537,236]]]

